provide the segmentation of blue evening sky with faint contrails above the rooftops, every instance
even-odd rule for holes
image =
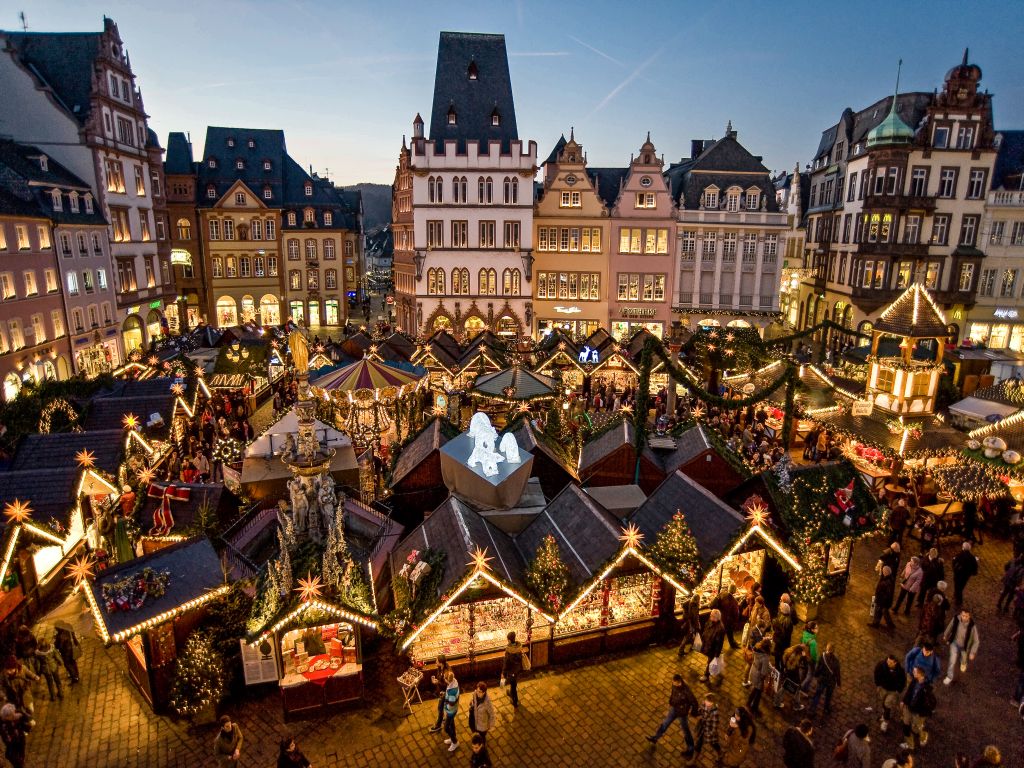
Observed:
[[[17,2],[0,28],[18,29]],[[402,134],[429,121],[441,30],[506,36],[516,118],[541,159],[574,126],[591,165],[625,165],[649,130],[666,161],[731,120],[769,169],[806,163],[845,106],[940,87],[965,46],[996,128],[1024,128],[1016,2],[342,2],[22,0],[30,30],[121,30],[151,125],[282,128],[337,183],[393,180]]]

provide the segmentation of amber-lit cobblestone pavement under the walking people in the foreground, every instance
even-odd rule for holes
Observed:
[[[858,546],[850,593],[823,606],[819,615],[820,643],[837,646],[843,666],[844,685],[837,693],[835,709],[819,721],[814,740],[818,765],[831,764],[830,753],[842,733],[860,720],[872,726],[872,766],[891,757],[900,741],[898,732],[878,732],[872,713],[870,674],[874,663],[890,650],[904,653],[911,645],[916,616],[897,618],[894,631],[870,630],[864,625],[872,589],[871,572],[883,543],[876,539]],[[953,547],[944,548],[948,563]],[[953,756],[964,752],[977,756],[986,743],[1004,750],[1004,765],[1024,765],[1022,724],[1010,707],[1016,679],[1010,635],[1012,622],[994,614],[995,584],[1008,559],[1004,542],[988,542],[976,548],[981,574],[967,590],[976,606],[981,632],[977,664],[966,678],[952,686],[938,686],[938,712],[929,728],[932,737],[921,750],[918,768],[948,768]],[[947,566],[948,567],[948,566]],[[124,649],[103,648],[89,628],[88,614],[79,617],[79,629],[87,633],[82,683],[66,688],[63,701],[43,700],[37,690],[38,727],[29,741],[30,766],[187,766],[212,765],[211,728],[194,730],[169,718],[156,717],[127,678]],[[943,651],[943,655],[945,652]],[[678,766],[683,765],[683,746],[678,728],[670,730],[656,746],[643,738],[653,732],[665,714],[672,674],[682,671],[694,690],[702,657],[677,660],[675,650],[651,647],[634,653],[539,671],[520,685],[521,707],[513,712],[505,693],[494,689],[498,722],[488,739],[492,758],[507,766]],[[723,726],[730,710],[745,699],[740,686],[741,659],[727,652],[724,682],[716,687]],[[393,696],[397,697],[397,686]],[[465,701],[465,697],[464,697]],[[334,766],[464,766],[469,763],[465,711],[459,716],[459,732],[465,742],[449,755],[441,734],[427,733],[434,716],[433,702],[417,706],[411,717],[401,717],[398,702],[386,707],[342,712],[317,721],[285,724],[276,692],[255,696],[232,714],[242,724],[246,749],[242,766],[275,764],[276,742],[292,733],[315,768]],[[759,733],[751,765],[781,766],[780,734],[799,715],[788,709],[778,712],[762,707]],[[702,762],[711,766],[706,751]]]

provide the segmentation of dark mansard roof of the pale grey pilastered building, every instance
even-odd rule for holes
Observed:
[[[760,175],[751,175],[755,173]],[[778,210],[775,187],[768,169],[761,158],[751,155],[731,134],[706,145],[696,158],[669,166],[665,176],[672,199],[678,203],[682,195],[684,208],[687,210],[697,210],[700,207],[700,196],[711,185],[722,190],[739,186],[744,191],[756,186],[763,196],[767,209]]]

